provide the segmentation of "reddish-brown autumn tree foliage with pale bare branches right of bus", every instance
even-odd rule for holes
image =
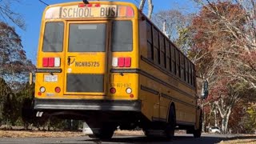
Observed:
[[[198,1],[202,9],[189,26],[190,58],[197,66],[198,77],[210,82],[210,95],[204,102],[209,119],[205,122],[212,122],[211,115],[217,110],[215,118],[221,120],[210,125],[221,126],[223,133],[245,131],[236,126],[228,130],[229,124],[246,115],[238,107],[255,97],[256,26],[252,22],[256,17],[255,2],[253,6],[250,2]],[[234,117],[231,122],[230,115]]]

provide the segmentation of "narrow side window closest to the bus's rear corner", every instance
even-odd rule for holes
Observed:
[[[154,60],[154,47],[152,36],[152,26],[150,22],[146,22],[147,58]]]

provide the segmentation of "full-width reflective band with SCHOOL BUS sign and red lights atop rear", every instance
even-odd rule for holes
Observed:
[[[91,6],[80,5],[50,7],[46,10],[45,18],[134,18],[134,9],[131,6],[100,4],[91,4]]]

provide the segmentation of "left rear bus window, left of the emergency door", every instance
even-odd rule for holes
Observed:
[[[63,50],[63,22],[46,22],[43,35],[42,51],[62,52]]]

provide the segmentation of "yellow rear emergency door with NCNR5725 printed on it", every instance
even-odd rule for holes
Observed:
[[[107,22],[68,22],[65,94],[106,95]]]

